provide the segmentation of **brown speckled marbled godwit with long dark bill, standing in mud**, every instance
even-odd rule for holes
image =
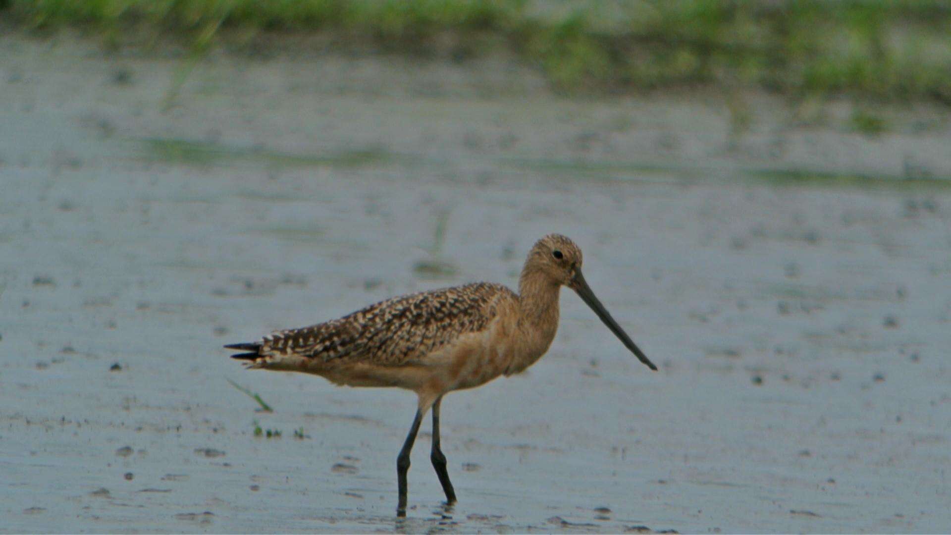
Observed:
[[[456,491],[439,448],[442,396],[512,375],[537,361],[558,327],[558,295],[567,286],[650,369],[581,276],[581,249],[560,234],[535,243],[518,279],[518,293],[476,283],[404,295],[311,327],[280,330],[260,342],[225,346],[248,367],[314,373],[338,385],[399,386],[418,396],[416,418],[397,458],[398,516],[406,514],[406,473],[419,425],[433,409],[430,456],[449,505]]]

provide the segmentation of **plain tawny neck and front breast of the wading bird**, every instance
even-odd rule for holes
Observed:
[[[519,328],[537,359],[548,350],[558,329],[561,285],[545,272],[526,266],[518,280]],[[535,354],[536,353],[536,354]]]

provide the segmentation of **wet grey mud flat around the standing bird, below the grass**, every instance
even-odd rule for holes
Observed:
[[[951,525],[941,110],[869,138],[753,95],[738,134],[715,99],[572,101],[504,61],[222,55],[169,97],[175,58],[0,58],[2,531]],[[395,518],[412,394],[221,348],[514,286],[551,231],[661,370],[565,291],[547,356],[446,398],[451,510],[423,432]]]

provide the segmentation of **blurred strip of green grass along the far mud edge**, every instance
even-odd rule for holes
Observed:
[[[512,53],[574,95],[751,88],[951,106],[951,3],[931,0],[0,0],[0,16],[113,48],[280,50],[281,35],[306,34],[320,50]]]

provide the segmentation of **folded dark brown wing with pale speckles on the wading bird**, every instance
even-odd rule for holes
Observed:
[[[488,327],[498,299],[514,295],[501,285],[476,283],[395,297],[339,320],[277,331],[264,337],[260,352],[398,366]]]

